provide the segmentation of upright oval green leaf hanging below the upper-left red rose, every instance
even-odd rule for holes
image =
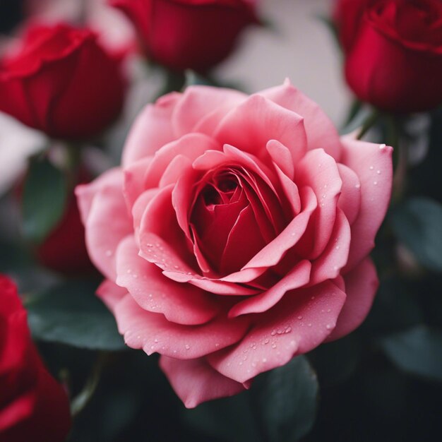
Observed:
[[[23,188],[23,234],[40,243],[61,219],[66,207],[67,182],[63,172],[46,158],[31,160]]]

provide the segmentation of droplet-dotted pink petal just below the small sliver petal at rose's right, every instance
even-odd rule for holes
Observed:
[[[330,241],[321,256],[313,261],[310,285],[338,277],[347,264],[350,241],[350,225],[342,210],[338,209]]]

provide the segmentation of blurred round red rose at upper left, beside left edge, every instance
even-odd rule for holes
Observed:
[[[0,62],[0,110],[55,138],[96,135],[123,99],[119,62],[87,29],[34,25]]]

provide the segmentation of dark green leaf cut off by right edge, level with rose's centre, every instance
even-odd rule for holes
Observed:
[[[396,237],[430,270],[442,270],[442,206],[430,198],[412,198],[390,214]]]

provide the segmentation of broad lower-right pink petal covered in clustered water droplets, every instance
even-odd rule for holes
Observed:
[[[329,281],[289,292],[259,318],[238,345],[209,355],[208,362],[241,383],[285,365],[295,354],[309,352],[330,335],[345,297]]]

